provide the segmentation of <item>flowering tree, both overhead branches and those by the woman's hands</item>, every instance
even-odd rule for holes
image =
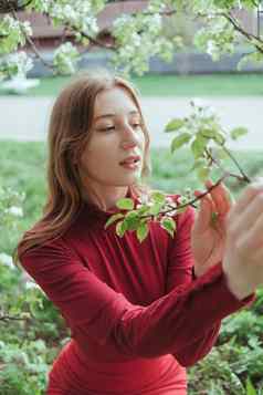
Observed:
[[[88,50],[91,45],[112,51],[113,63],[124,73],[144,74],[148,70],[150,56],[159,55],[169,61],[176,49],[182,45],[180,37],[168,37],[164,31],[165,20],[176,13],[202,21],[202,28],[194,34],[193,43],[198,49],[209,53],[214,61],[222,54],[233,53],[239,43],[246,43],[250,53],[243,56],[240,66],[250,60],[263,62],[260,19],[256,31],[252,32],[245,30],[236,13],[245,10],[257,12],[259,17],[261,2],[261,0],[149,0],[140,11],[122,14],[115,19],[112,25],[113,41],[105,43],[97,39],[99,32],[97,21],[99,12],[111,1],[1,0],[0,11],[3,12],[3,17],[0,20],[0,55],[2,55],[0,80],[7,76],[25,76],[33,65],[33,58],[40,58],[55,74],[72,74],[76,70],[81,52]],[[54,27],[64,27],[65,32],[74,37],[74,43],[69,39],[66,41],[65,35],[64,43],[54,50],[53,61],[46,62],[32,41],[32,28],[29,21],[19,20],[19,10],[43,13]],[[25,45],[31,48],[33,55],[22,51]],[[189,145],[193,156],[193,169],[200,179],[208,178],[211,170],[218,168],[221,170],[218,183],[229,176],[249,183],[249,177],[227,147],[228,136],[235,139],[248,131],[238,127],[230,131],[228,135],[217,115],[209,108],[192,103],[192,110],[188,118],[172,119],[166,127],[166,132],[176,134],[171,144],[172,152]],[[233,160],[239,174],[224,169],[220,159],[222,154]],[[175,222],[169,214],[175,214],[175,209],[179,212],[201,197],[191,198],[188,191],[187,196],[182,197],[181,205],[176,208],[170,201],[167,204],[165,195],[158,193],[151,198],[147,197],[148,205],[145,201],[138,210],[135,210],[132,201],[126,200],[119,202],[119,208],[127,210],[126,216],[118,214],[109,224],[118,220],[119,236],[126,230],[136,230],[138,238],[143,240],[147,236],[147,221],[154,218],[172,233]]]

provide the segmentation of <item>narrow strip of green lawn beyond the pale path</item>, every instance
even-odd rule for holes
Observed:
[[[69,81],[71,77],[44,77],[27,96],[56,96]],[[145,75],[133,82],[143,96],[263,95],[262,74]]]

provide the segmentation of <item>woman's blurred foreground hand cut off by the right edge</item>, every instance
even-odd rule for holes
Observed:
[[[263,179],[245,188],[225,221],[223,271],[232,293],[243,299],[263,284]]]

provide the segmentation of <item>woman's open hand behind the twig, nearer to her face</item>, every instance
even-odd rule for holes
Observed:
[[[211,180],[207,188],[213,186]],[[202,193],[197,190],[196,196]],[[231,208],[230,194],[221,183],[210,194],[201,198],[200,209],[193,228],[191,246],[194,257],[194,273],[197,277],[206,273],[212,266],[223,259],[225,249],[225,218]]]

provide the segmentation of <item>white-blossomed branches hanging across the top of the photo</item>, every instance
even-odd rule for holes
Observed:
[[[194,35],[196,46],[209,53],[213,60],[222,54],[233,53],[242,42],[250,46],[243,61],[263,61],[263,39],[260,27],[249,32],[236,17],[236,10],[256,12],[260,0],[149,0],[144,9],[133,14],[119,15],[112,25],[112,43],[97,39],[99,12],[111,1],[105,0],[1,0],[0,12],[0,79],[25,75],[33,65],[33,58],[40,58],[54,73],[71,74],[77,66],[81,52],[90,45],[105,48],[112,52],[116,67],[128,73],[143,74],[148,70],[150,56],[158,55],[171,60],[180,46],[180,37],[166,37],[164,21],[173,14],[183,13],[186,18],[200,19],[201,28]],[[74,43],[66,39],[54,50],[53,61],[46,62],[40,49],[32,41],[29,21],[20,21],[17,11],[38,11],[44,14],[54,27],[62,25],[74,37]],[[23,48],[31,46],[33,56]],[[243,62],[242,61],[242,62]]]

